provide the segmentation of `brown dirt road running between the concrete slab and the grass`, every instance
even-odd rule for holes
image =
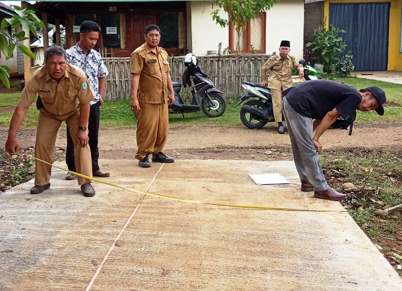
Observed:
[[[135,127],[101,127],[99,129],[100,159],[130,159],[137,150]],[[36,129],[21,129],[18,134],[21,147],[35,145]],[[0,129],[0,144],[4,148],[8,130]],[[65,129],[61,128],[56,147],[65,147]],[[402,149],[402,123],[355,123],[353,133],[328,129],[320,138],[323,151],[334,148]],[[262,129],[248,129],[243,125],[174,126],[169,130],[165,146],[167,155],[177,159],[262,159],[272,158],[267,150],[289,152],[287,132],[278,134],[272,124]],[[257,155],[261,153],[264,155]],[[257,155],[257,156],[256,156]],[[283,157],[283,156],[282,156]],[[290,157],[291,158],[291,157]],[[286,160],[286,159],[285,159]]]

